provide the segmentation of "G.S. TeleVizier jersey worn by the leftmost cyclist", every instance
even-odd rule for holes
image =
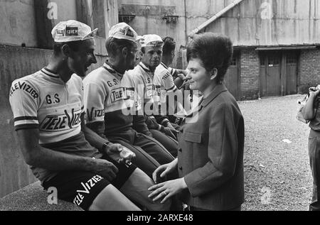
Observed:
[[[40,144],[78,135],[84,112],[82,94],[82,79],[77,75],[65,83],[58,75],[43,69],[16,79],[9,97],[15,129],[39,128]]]

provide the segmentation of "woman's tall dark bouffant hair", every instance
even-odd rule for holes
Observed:
[[[222,83],[233,57],[233,43],[220,33],[203,33],[197,35],[187,48],[188,62],[192,58],[202,61],[207,71],[218,70],[216,81]]]

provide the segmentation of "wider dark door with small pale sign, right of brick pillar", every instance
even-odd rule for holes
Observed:
[[[261,97],[281,95],[281,53],[265,53],[260,56]]]

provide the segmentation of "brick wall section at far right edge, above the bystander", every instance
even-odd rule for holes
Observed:
[[[320,50],[302,50],[299,63],[298,92],[320,84]]]

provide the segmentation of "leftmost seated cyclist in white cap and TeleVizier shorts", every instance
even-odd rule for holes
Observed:
[[[81,77],[97,62],[95,32],[78,21],[58,23],[47,67],[12,83],[9,98],[23,157],[46,190],[55,187],[59,199],[82,209],[139,210],[132,201],[149,210],[169,209],[147,198],[152,182],[142,170],[116,161],[127,163],[133,153],[122,155],[122,146],[105,144],[84,125]]]

